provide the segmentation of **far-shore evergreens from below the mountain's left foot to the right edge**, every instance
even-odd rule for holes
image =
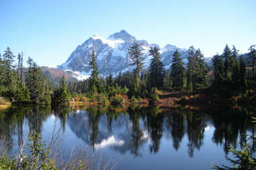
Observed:
[[[199,92],[209,88],[211,92],[224,97],[246,94],[253,88],[255,80],[255,46],[249,48],[249,63],[245,63],[244,56],[239,55],[233,46],[232,50],[225,46],[223,54],[212,58],[212,64],[204,61],[200,49],[191,46],[188,50],[187,65],[183,63],[181,54],[176,50],[173,54],[171,68],[165,70],[161,62],[158,48],[151,48],[148,52],[151,64],[144,70],[144,57],[140,44],[134,44],[129,49],[131,65],[134,72],[112,75],[99,78],[94,52],[91,55],[91,78],[83,81],[70,82],[67,86],[71,94],[95,95],[97,93],[107,96],[115,94],[128,94],[130,98],[151,98],[158,88],[165,91]]]

